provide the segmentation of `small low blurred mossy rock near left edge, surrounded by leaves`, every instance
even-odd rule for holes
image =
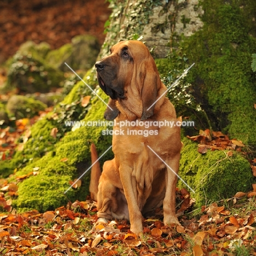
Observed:
[[[9,115],[16,119],[31,118],[46,107],[44,103],[22,95],[11,96],[6,106]]]

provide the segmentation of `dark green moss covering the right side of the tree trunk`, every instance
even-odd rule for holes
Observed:
[[[256,78],[251,69],[256,52],[255,1],[201,4],[205,10],[202,30],[181,43],[189,62],[195,62],[189,82],[214,129],[255,146]]]

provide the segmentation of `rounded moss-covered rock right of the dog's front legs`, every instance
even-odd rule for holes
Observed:
[[[195,190],[191,196],[195,197],[196,206],[251,190],[255,178],[249,162],[240,153],[232,152],[228,156],[225,150],[216,150],[200,154],[197,143],[187,138],[183,142],[179,175]],[[178,187],[187,188],[182,181],[178,182]]]

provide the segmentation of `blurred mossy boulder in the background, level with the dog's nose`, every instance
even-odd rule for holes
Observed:
[[[72,38],[71,44],[50,51],[46,61],[62,71],[70,71],[65,62],[74,70],[89,70],[94,65],[99,52],[100,45],[95,37],[80,35]]]

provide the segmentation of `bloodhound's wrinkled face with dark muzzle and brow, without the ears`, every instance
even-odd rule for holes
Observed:
[[[144,54],[145,53],[145,54]],[[139,41],[123,41],[110,49],[110,55],[96,62],[98,84],[112,100],[126,98],[125,87],[134,78],[135,62],[149,54]]]

